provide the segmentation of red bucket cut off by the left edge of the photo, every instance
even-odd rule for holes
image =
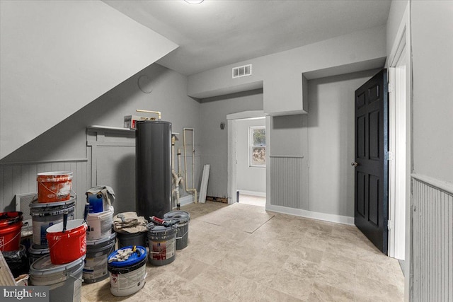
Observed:
[[[19,250],[21,245],[22,212],[0,213],[0,251]]]

